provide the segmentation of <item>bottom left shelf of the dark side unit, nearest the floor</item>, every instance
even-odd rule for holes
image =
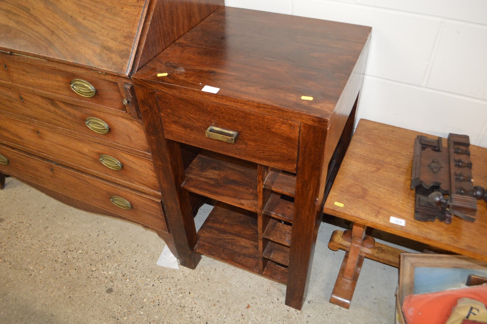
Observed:
[[[217,203],[198,231],[198,253],[259,274],[257,215]]]

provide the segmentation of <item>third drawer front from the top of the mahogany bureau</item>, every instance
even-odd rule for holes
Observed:
[[[152,160],[0,115],[0,141],[138,190],[159,191]],[[112,170],[102,155],[122,164]],[[107,162],[108,159],[105,159]],[[143,187],[143,188],[140,188]]]

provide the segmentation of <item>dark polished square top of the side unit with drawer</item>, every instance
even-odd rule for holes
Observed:
[[[221,7],[144,66],[134,83],[202,96],[208,85],[227,102],[258,104],[249,109],[326,122],[365,64],[370,33],[371,27]]]

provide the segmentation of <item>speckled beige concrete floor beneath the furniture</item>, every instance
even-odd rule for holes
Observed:
[[[207,257],[195,270],[159,267],[165,244],[155,233],[7,178],[0,323],[393,323],[393,267],[366,259],[350,309],[328,302],[344,255],[327,248],[333,229],[320,227],[298,311],[284,305],[285,286]]]

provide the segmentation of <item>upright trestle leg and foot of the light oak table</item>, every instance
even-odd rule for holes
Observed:
[[[350,250],[345,253],[343,262],[338,272],[337,281],[330,297],[330,303],[349,308],[354,295],[358,275],[362,268],[364,257],[360,255],[360,249],[365,237],[367,227],[354,223],[352,229],[352,244]]]

